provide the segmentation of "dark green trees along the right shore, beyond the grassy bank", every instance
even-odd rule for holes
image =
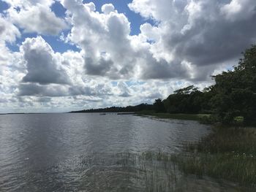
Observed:
[[[208,113],[222,123],[243,118],[256,123],[256,45],[244,53],[232,70],[212,76],[214,85],[198,90],[194,85],[174,91],[167,99],[154,102],[156,112]]]

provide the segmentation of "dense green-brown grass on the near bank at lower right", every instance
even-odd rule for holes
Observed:
[[[184,151],[173,158],[183,172],[256,187],[255,128],[214,128]]]

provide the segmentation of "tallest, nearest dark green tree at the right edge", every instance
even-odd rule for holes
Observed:
[[[245,51],[233,71],[214,76],[216,94],[211,99],[222,123],[243,116],[244,123],[256,122],[256,46]]]

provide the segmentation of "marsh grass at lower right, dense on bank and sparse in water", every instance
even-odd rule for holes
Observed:
[[[213,177],[256,187],[255,128],[216,127],[208,136],[198,142],[184,143],[183,147],[183,152],[178,154],[148,151],[133,158],[133,164],[140,165],[148,188],[161,191],[160,188],[173,186],[181,174]],[[127,155],[124,159],[130,158]],[[157,178],[163,172],[165,176],[169,175],[169,179],[159,184]]]

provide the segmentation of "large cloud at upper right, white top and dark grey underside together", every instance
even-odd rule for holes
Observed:
[[[184,58],[195,66],[219,64],[238,58],[243,50],[256,42],[256,1],[237,1],[242,10],[252,7],[249,15],[244,10],[246,18],[239,12],[227,18],[223,7],[229,6],[228,14],[236,12],[236,8],[230,6],[231,2],[195,1],[200,6],[200,11],[195,13],[192,13],[193,9],[188,12],[184,7],[183,12],[188,12],[190,17],[185,23],[187,30],[173,28],[170,21],[167,26],[171,32],[163,36],[167,50],[174,50],[176,58]]]

